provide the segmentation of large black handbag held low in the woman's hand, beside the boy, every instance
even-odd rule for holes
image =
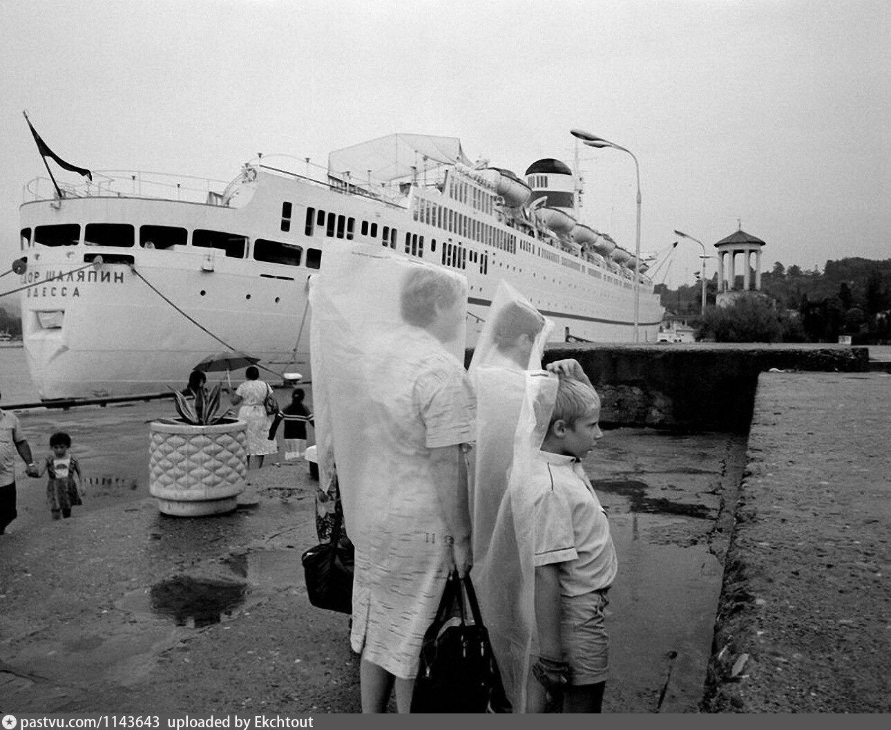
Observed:
[[[468,623],[464,615],[465,596],[473,623]],[[454,622],[456,606],[459,623]],[[446,580],[436,618],[424,634],[411,709],[412,712],[511,711],[470,576],[459,578],[457,570]]]

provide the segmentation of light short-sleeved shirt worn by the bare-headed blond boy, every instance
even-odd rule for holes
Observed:
[[[539,451],[535,489],[535,567],[560,563],[560,595],[583,595],[616,578],[609,521],[574,456]]]

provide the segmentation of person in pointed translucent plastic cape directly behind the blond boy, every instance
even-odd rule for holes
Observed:
[[[514,712],[525,711],[530,657],[537,651],[535,496],[524,477],[544,439],[557,390],[557,379],[542,369],[552,327],[502,282],[470,361],[477,396],[472,576]]]

